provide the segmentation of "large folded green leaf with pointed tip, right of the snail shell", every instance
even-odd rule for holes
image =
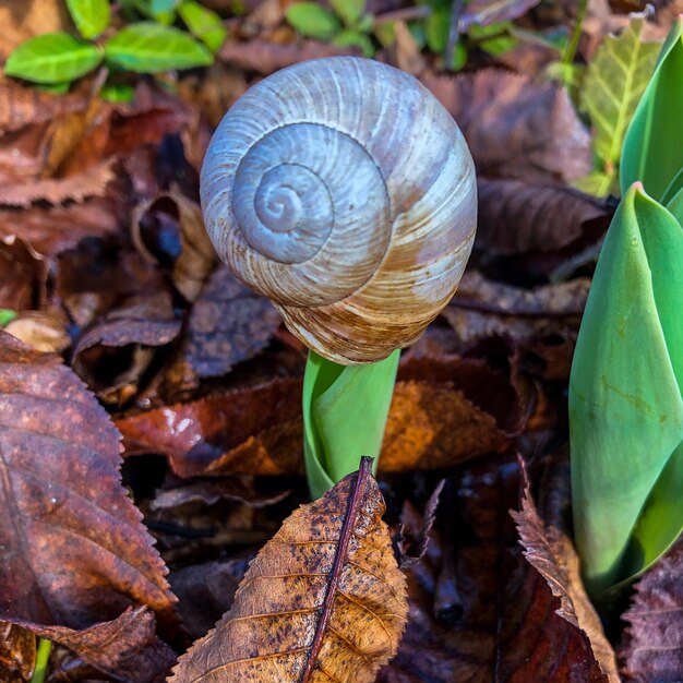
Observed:
[[[683,528],[682,308],[683,230],[634,183],[600,252],[570,381],[574,528],[594,597]]]

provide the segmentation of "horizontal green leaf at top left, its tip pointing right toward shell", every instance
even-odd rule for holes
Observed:
[[[107,40],[105,56],[108,63],[140,73],[205,67],[214,60],[212,53],[187,33],[152,22],[122,28]]]

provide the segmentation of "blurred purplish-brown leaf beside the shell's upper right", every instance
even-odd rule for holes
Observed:
[[[422,81],[456,120],[480,175],[562,184],[592,168],[588,131],[559,85],[494,69]]]

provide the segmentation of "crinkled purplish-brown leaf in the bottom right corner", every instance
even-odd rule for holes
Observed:
[[[624,681],[679,683],[683,672],[683,538],[638,582],[622,619]]]

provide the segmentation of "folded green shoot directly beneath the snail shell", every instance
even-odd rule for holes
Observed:
[[[312,498],[378,457],[400,351],[367,366],[339,366],[309,352],[303,375],[303,453]]]

